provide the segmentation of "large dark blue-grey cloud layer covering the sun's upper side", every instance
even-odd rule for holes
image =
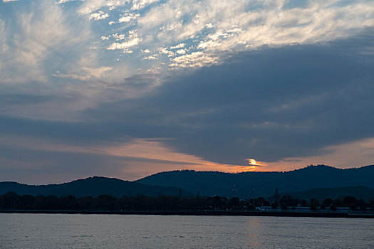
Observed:
[[[367,30],[328,44],[230,55],[171,76],[145,97],[85,110],[82,122],[0,117],[1,134],[78,145],[166,137],[177,152],[226,164],[323,154],[323,147],[374,137],[372,41]]]

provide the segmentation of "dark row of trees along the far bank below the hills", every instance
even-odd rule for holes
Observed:
[[[374,200],[365,202],[353,196],[318,201],[300,200],[286,195],[267,201],[266,198],[251,198],[240,200],[237,197],[222,196],[194,196],[181,198],[180,196],[123,196],[116,198],[109,195],[97,197],[84,196],[30,196],[8,192],[0,195],[1,210],[71,210],[71,211],[199,211],[199,210],[254,210],[259,206],[273,208],[294,208],[296,206],[316,208],[349,207],[351,209],[374,210]]]

